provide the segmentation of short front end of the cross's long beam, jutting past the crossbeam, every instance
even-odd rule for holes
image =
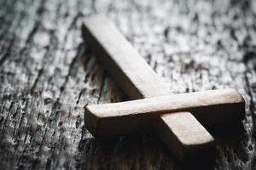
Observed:
[[[160,115],[158,135],[179,161],[212,150],[214,139],[189,112]]]

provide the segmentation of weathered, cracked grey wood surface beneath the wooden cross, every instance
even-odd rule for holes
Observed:
[[[236,88],[246,119],[241,130],[210,131],[207,169],[256,168],[255,1],[2,0],[0,169],[183,168],[154,136],[95,139],[85,129],[84,105],[126,99],[82,41],[81,23],[96,13],[173,94]]]

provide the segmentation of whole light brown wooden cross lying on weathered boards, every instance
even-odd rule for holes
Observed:
[[[85,126],[96,137],[156,133],[179,160],[207,150],[214,139],[202,125],[238,122],[245,103],[235,89],[171,94],[160,77],[102,15],[84,21],[83,37],[130,99],[89,105]],[[202,125],[201,125],[201,123]]]

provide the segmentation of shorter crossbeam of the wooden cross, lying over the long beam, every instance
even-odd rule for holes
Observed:
[[[227,88],[89,105],[84,119],[96,136],[152,133],[160,114],[177,111],[191,112],[203,125],[238,122],[244,118],[245,103],[241,94]]]

